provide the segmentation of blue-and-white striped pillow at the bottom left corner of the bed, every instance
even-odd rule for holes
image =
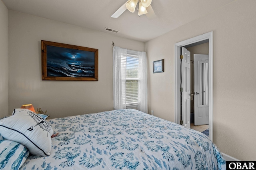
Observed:
[[[28,158],[26,147],[14,141],[0,141],[0,169],[18,170]]]

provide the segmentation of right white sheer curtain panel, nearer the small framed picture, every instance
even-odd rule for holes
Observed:
[[[139,51],[138,110],[148,113],[148,74],[146,52]]]

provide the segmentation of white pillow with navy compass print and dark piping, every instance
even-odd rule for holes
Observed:
[[[28,109],[14,109],[12,116],[0,119],[0,132],[5,139],[24,145],[31,154],[50,155],[52,127]]]

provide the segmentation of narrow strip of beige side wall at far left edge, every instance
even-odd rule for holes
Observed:
[[[8,115],[8,9],[0,0],[0,118]]]

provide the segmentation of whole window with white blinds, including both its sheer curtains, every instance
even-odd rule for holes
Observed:
[[[147,57],[144,51],[113,48],[114,109],[148,113]]]

